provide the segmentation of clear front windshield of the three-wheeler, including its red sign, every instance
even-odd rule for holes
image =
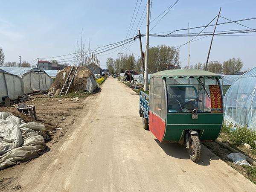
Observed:
[[[221,92],[217,79],[166,79],[168,112],[221,113]]]

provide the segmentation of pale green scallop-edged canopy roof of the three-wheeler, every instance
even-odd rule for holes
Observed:
[[[215,73],[204,71],[204,70],[196,70],[196,69],[177,69],[177,70],[165,70],[154,73],[150,76],[150,78],[154,76],[160,76],[162,78],[166,77],[221,77],[221,75],[217,75]]]

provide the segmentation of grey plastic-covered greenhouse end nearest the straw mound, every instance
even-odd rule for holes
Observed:
[[[31,70],[21,76],[24,83],[24,93],[48,90],[53,80],[44,70]]]

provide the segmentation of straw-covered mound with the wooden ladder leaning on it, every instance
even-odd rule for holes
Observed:
[[[66,67],[57,74],[55,82],[52,84],[52,87],[48,92],[48,96],[59,95],[71,69],[72,66]],[[99,85],[97,84],[95,76],[90,69],[79,66],[74,80],[70,84],[69,92],[87,91],[92,93],[97,87],[99,87]]]

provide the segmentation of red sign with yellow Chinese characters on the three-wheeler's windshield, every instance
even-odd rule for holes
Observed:
[[[211,96],[211,112],[221,113],[222,102],[221,102],[221,90],[218,85],[209,85],[210,96]]]

